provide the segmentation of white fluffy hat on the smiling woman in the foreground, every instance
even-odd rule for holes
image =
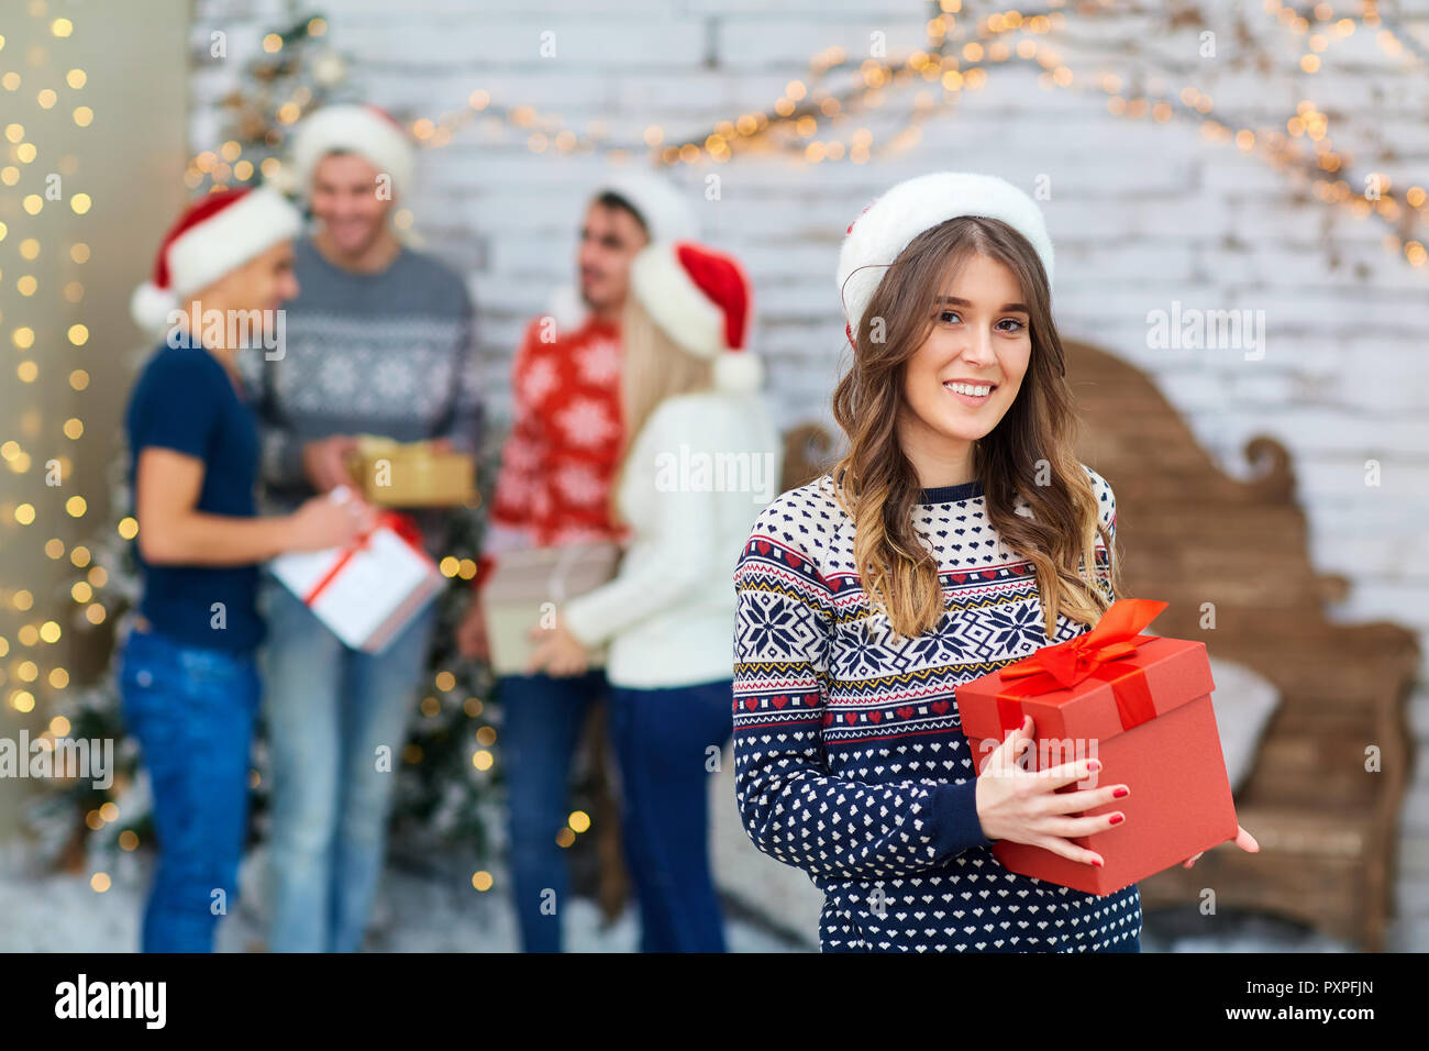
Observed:
[[[853,342],[885,269],[923,230],[960,216],[1000,219],[1030,242],[1052,285],[1052,237],[1042,209],[1006,179],[969,172],[933,172],[907,179],[849,224],[839,252],[839,295]]]

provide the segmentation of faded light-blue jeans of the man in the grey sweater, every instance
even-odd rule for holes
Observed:
[[[436,602],[380,655],[349,649],[273,581],[263,678],[272,759],[269,951],[354,952],[377,897],[387,815]]]

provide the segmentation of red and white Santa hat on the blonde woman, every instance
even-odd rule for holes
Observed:
[[[759,389],[763,369],[745,347],[750,285],[733,256],[686,240],[646,245],[630,263],[630,290],[676,345],[714,362],[716,389]]]

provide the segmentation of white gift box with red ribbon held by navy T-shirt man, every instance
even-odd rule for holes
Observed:
[[[380,653],[446,583],[389,516],[377,520],[356,548],[290,552],[270,565],[273,576],[344,645],[367,653]]]

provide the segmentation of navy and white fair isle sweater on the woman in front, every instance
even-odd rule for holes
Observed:
[[[1115,538],[1112,488],[1086,470]],[[1020,498],[1016,510],[1030,515]],[[1135,884],[1097,897],[997,862],[957,714],[957,684],[1090,628],[1059,616],[1047,638],[1032,563],[987,523],[982,482],[925,489],[913,515],[946,612],[902,643],[870,615],[829,475],[755,523],[735,569],[745,829],[825,892],[825,951],[1085,952],[1139,937]],[[1097,539],[1103,588],[1106,558]]]

